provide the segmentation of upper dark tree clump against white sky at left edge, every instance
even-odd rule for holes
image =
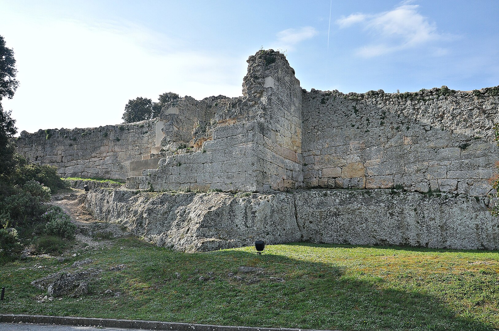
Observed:
[[[14,96],[19,85],[16,74],[14,52],[5,46],[5,40],[0,35],[0,101],[4,97],[12,99]]]

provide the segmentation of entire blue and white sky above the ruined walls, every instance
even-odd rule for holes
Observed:
[[[0,0],[20,82],[2,104],[19,131],[117,124],[138,96],[242,95],[260,48],[307,90],[497,86],[498,15],[498,0]]]

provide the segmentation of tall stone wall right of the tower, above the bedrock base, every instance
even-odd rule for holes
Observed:
[[[304,184],[487,196],[495,123],[499,97],[485,90],[313,90],[303,101]]]

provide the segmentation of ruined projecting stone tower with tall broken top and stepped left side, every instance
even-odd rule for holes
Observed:
[[[284,55],[248,60],[243,97],[172,103],[157,169],[128,178],[129,188],[268,191],[301,187],[301,89]],[[179,144],[179,141],[183,144]],[[153,149],[155,150],[155,149]],[[144,162],[145,163],[145,162]]]

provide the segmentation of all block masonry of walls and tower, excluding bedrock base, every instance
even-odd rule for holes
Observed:
[[[64,176],[125,178],[130,167],[131,189],[491,193],[498,87],[306,92],[283,54],[248,63],[242,97],[185,97],[128,125],[23,132],[18,152]]]

